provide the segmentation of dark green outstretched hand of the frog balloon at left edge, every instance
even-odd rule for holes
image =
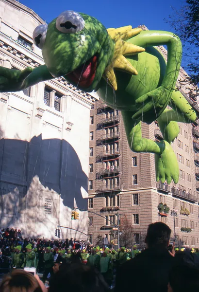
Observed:
[[[20,91],[27,86],[26,78],[33,72],[31,67],[26,69],[13,70],[0,67],[0,92],[4,91]]]

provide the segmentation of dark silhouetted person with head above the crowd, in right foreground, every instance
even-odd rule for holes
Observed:
[[[171,230],[162,222],[149,225],[147,249],[121,265],[116,274],[115,292],[167,292],[168,274],[174,257],[168,252]],[[132,279],[132,280],[131,280]]]

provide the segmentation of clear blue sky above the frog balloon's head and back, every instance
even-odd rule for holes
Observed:
[[[150,30],[172,31],[164,21],[184,0],[19,0],[50,22],[65,10],[89,14],[106,28],[145,24]],[[123,5],[123,3],[127,3]]]

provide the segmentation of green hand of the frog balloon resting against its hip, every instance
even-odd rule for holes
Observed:
[[[155,119],[159,116],[159,111],[165,108],[169,102],[172,91],[167,90],[165,87],[158,87],[140,96],[135,101],[137,112],[132,116],[132,119],[141,120],[142,116],[146,113],[150,114],[155,112]]]

